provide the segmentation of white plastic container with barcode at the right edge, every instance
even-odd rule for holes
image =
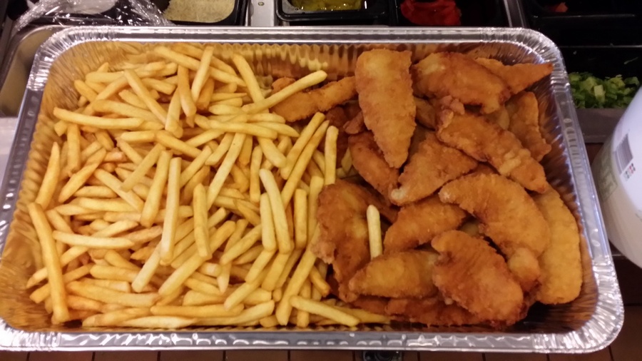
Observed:
[[[608,239],[642,268],[642,90],[592,168]]]

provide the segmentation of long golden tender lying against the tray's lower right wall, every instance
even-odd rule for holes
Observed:
[[[571,302],[578,297],[582,287],[576,219],[553,188],[535,195],[534,200],[551,229],[551,245],[539,257],[542,275],[537,300],[548,305]]]

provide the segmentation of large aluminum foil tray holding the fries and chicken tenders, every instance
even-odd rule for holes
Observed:
[[[543,129],[553,151],[544,158],[551,184],[563,196],[583,231],[584,285],[568,305],[531,307],[514,327],[393,325],[311,330],[203,328],[178,332],[55,327],[29,301],[26,278],[39,254],[25,212],[34,199],[55,135],[51,121],[39,120],[54,106],[73,106],[68,89],[103,61],[118,61],[131,44],[203,42],[229,58],[241,51],[260,75],[302,74],[325,69],[330,77],[351,74],[358,54],[373,46],[409,49],[415,61],[439,50],[491,56],[507,63],[554,64],[550,78],[533,91],[544,115]],[[125,42],[129,44],[124,45]],[[48,146],[49,144],[49,146]],[[35,190],[34,190],[35,189]],[[502,352],[592,352],[611,343],[623,323],[623,304],[606,241],[584,140],[571,101],[568,78],[552,41],[525,29],[193,29],[76,27],[51,36],[36,55],[21,108],[19,126],[0,189],[0,349],[7,350],[166,350],[166,349],[389,349]]]

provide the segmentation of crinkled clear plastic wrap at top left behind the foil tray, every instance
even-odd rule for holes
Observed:
[[[14,34],[29,25],[169,26],[148,0],[40,0],[20,16]]]

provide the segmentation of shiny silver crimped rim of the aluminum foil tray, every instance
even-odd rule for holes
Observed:
[[[82,34],[82,38],[78,35]],[[156,36],[156,38],[154,38]],[[514,39],[524,38],[521,43]],[[73,39],[70,41],[70,39]],[[529,29],[449,28],[417,29],[387,27],[105,27],[78,26],[63,29],[44,42],[36,53],[29,83],[19,114],[10,161],[0,188],[0,251],[16,205],[21,178],[31,147],[44,83],[51,64],[67,49],[88,41],[222,42],[279,44],[355,43],[469,43],[509,42],[525,45],[534,41],[536,54],[554,55],[551,75],[556,111],[561,119],[569,166],[580,201],[584,232],[591,254],[593,275],[598,286],[596,312],[579,330],[561,333],[529,332],[402,332],[402,331],[260,331],[260,332],[26,332],[0,319],[0,350],[198,350],[198,349],[342,349],[342,350],[448,350],[469,352],[560,352],[584,353],[607,347],[623,325],[623,301],[617,283],[611,250],[591,176],[584,139],[579,127],[564,61],[556,45]],[[70,44],[71,43],[71,44]],[[1,256],[1,253],[0,253]],[[601,313],[599,317],[598,313]],[[591,332],[599,326],[601,332]],[[588,340],[588,344],[584,341]],[[201,343],[201,341],[203,341]]]

